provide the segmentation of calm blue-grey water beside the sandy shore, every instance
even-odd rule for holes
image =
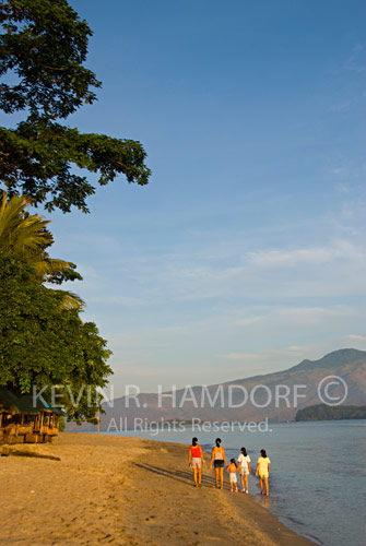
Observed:
[[[366,545],[366,420],[273,424],[268,431],[234,428],[208,432],[185,427],[158,434],[110,434],[187,446],[197,436],[206,451],[219,436],[227,459],[237,459],[245,446],[253,470],[264,448],[271,460],[269,498],[259,495],[258,479],[253,474],[249,476],[249,494],[258,502],[316,544]]]

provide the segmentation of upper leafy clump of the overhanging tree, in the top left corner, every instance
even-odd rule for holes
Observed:
[[[1,5],[4,59],[1,74],[15,71],[15,85],[2,84],[0,107],[7,112],[64,118],[101,83],[82,67],[92,32],[66,0],[10,0]]]

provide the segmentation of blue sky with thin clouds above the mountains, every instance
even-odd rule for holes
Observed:
[[[366,349],[366,2],[70,3],[103,88],[67,123],[153,170],[50,215],[115,395]]]

